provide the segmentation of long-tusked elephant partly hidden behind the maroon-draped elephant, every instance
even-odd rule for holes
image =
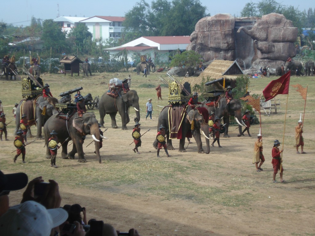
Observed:
[[[214,106],[208,106],[206,104],[207,101],[202,102],[202,106],[208,109],[209,114],[213,111],[215,112],[215,116],[221,118],[223,117],[223,122],[226,124],[224,138],[230,138],[229,132],[229,124],[230,124],[230,115],[234,115],[235,120],[238,122],[238,137],[242,134],[242,105],[238,100],[231,100],[228,105],[228,110],[226,110],[226,98],[221,98],[219,101],[219,106],[215,108]]]

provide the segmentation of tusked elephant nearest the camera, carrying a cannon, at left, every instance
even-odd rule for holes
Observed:
[[[92,134],[95,140],[95,153],[101,163],[99,140],[100,132],[98,121],[95,118],[94,112],[87,112],[78,117],[77,113],[70,117],[69,121],[59,119],[58,115],[51,116],[44,125],[44,136],[46,143],[46,158],[50,157],[49,147],[47,145],[49,134],[52,131],[57,132],[58,141],[62,144],[61,158],[74,159],[74,155],[78,154],[78,162],[86,162],[83,152],[83,136]],[[68,139],[67,139],[68,138]],[[72,151],[67,153],[68,142],[72,140]]]

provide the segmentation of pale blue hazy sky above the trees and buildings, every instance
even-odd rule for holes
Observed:
[[[146,0],[149,4],[151,1],[152,0]],[[255,0],[252,1],[254,3],[259,2]],[[310,7],[312,7],[313,10],[315,8],[315,2],[313,0],[276,1],[285,6],[292,5],[300,11],[303,11],[304,9],[307,11]],[[31,16],[42,20],[56,19],[58,15],[57,4],[59,4],[59,16],[124,16],[126,12],[135,6],[136,2],[140,2],[140,0],[14,0],[13,3],[11,1],[3,1],[1,4],[2,11],[0,13],[0,21],[15,26],[27,26],[30,25]],[[219,13],[229,13],[239,16],[245,4],[249,3],[250,0],[200,0],[200,2],[203,6],[207,7],[206,13],[210,13],[211,16]]]

